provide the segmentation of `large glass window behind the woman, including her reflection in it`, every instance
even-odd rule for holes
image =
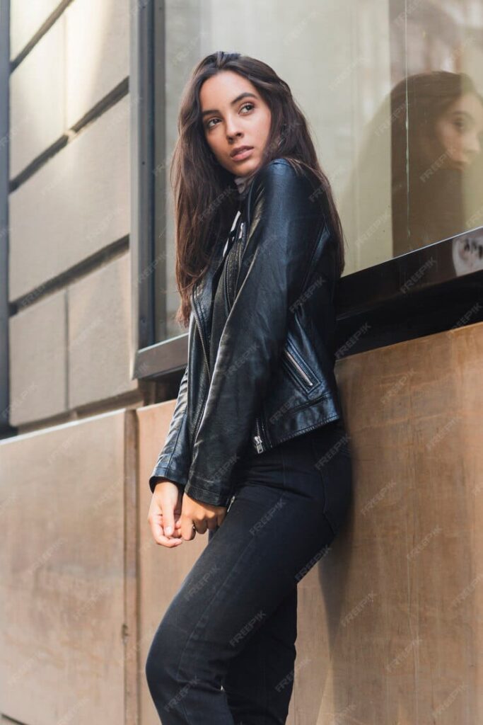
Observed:
[[[180,334],[169,162],[191,70],[215,50],[263,59],[310,124],[347,240],[344,274],[482,225],[481,0],[164,3],[165,265],[156,341]],[[157,51],[157,52],[161,52]],[[158,59],[159,61],[160,59]],[[164,104],[161,107],[161,103]],[[161,202],[159,202],[161,203]],[[456,263],[482,265],[461,239]]]

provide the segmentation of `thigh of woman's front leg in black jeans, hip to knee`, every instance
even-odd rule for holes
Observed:
[[[240,486],[156,632],[177,682],[220,684],[230,661],[329,550],[321,505],[273,486]],[[185,544],[186,545],[186,544]]]

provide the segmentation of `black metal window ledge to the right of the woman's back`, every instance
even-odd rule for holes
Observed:
[[[480,227],[343,276],[335,293],[337,359],[480,322],[483,269],[457,273],[453,251],[482,241]]]

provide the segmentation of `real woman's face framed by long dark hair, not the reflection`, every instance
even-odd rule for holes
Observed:
[[[235,176],[255,171],[264,159],[272,113],[253,83],[222,70],[204,81],[200,104],[205,138],[217,161]],[[232,156],[240,146],[250,150]]]

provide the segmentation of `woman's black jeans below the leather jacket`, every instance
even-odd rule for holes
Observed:
[[[297,584],[327,553],[350,507],[340,421],[250,452],[237,468],[235,500],[148,652],[146,678],[163,725],[285,724]]]

